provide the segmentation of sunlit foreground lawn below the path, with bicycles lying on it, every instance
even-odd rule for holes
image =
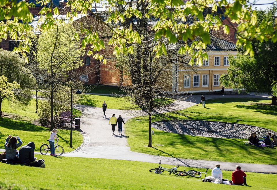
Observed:
[[[274,189],[273,182],[276,181],[274,174],[246,172],[249,187],[231,186],[203,183],[198,178],[169,175],[166,172],[150,173],[149,169],[158,166],[153,163],[35,156],[45,160],[45,168],[0,163],[0,189]],[[190,170],[185,167],[179,169]],[[210,174],[211,170],[208,171]],[[231,179],[231,171],[222,171],[222,174],[223,178]]]

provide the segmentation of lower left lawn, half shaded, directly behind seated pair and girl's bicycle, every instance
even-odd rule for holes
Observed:
[[[39,151],[42,142],[48,144],[50,131],[49,128],[36,126],[28,121],[13,120],[9,118],[0,118],[0,148],[4,149],[5,140],[8,135],[19,136],[23,145],[30,141],[35,143],[35,151]],[[72,131],[72,147],[70,148],[70,130],[58,130],[59,145],[65,152],[70,152],[83,143],[83,136],[80,132]],[[18,148],[19,149],[19,148]]]

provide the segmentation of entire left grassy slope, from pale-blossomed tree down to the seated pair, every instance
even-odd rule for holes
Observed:
[[[35,151],[39,151],[42,142],[47,142],[50,132],[48,128],[36,126],[31,124],[30,121],[38,119],[38,115],[35,113],[35,100],[31,100],[30,104],[26,107],[18,107],[4,101],[2,104],[2,111],[13,113],[16,115],[16,120],[2,118],[0,120],[0,148],[4,148],[5,139],[8,135],[19,136],[23,141],[23,145],[26,145],[29,141],[35,142]],[[76,116],[81,115],[81,111],[74,109],[73,114]],[[59,130],[58,138],[60,139],[59,145],[64,148],[65,152],[72,151],[70,148],[70,131]],[[72,147],[77,148],[83,142],[83,136],[78,131],[72,133]]]

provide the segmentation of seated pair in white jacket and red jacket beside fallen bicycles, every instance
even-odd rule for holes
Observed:
[[[236,165],[235,171],[232,172],[232,180],[228,181],[228,184],[232,185],[247,185],[246,184],[246,174],[241,170],[241,167]],[[223,183],[222,172],[220,170],[220,164],[216,164],[212,170],[212,176],[207,176],[204,180],[214,182],[214,183]],[[227,183],[226,183],[227,184]]]

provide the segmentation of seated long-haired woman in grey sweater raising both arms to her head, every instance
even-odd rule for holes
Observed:
[[[17,143],[18,141],[18,143]],[[22,145],[22,141],[20,140],[19,136],[11,136],[9,135],[6,138],[5,142],[5,150],[6,150],[6,160],[8,162],[18,163],[18,157],[16,156],[16,149]]]

